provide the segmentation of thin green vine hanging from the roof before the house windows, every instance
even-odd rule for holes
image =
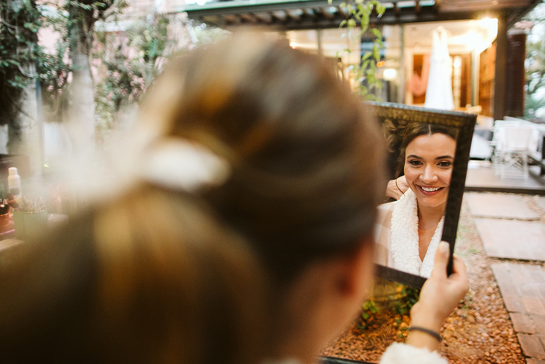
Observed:
[[[330,2],[331,3],[331,2]],[[382,81],[377,79],[377,62],[380,61],[380,49],[384,46],[382,42],[382,33],[371,23],[373,12],[381,17],[386,8],[378,0],[354,0],[343,2],[340,8],[348,13],[347,19],[341,21],[340,28],[347,29],[347,41],[349,41],[349,31],[359,25],[358,41],[362,35],[370,33],[373,44],[372,51],[366,52],[361,57],[359,65],[354,67],[356,86],[358,93],[367,100],[377,99],[375,93],[382,89]],[[350,52],[350,47],[345,51]]]

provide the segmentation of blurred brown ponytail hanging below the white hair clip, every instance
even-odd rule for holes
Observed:
[[[190,195],[144,184],[3,252],[3,361],[262,360],[264,273],[211,216]]]

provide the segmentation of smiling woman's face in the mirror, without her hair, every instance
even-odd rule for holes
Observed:
[[[405,178],[420,206],[438,207],[449,196],[456,141],[440,133],[420,135],[405,150]]]

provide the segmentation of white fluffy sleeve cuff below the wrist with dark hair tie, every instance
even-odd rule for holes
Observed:
[[[424,348],[415,348],[411,345],[402,343],[391,344],[383,356],[380,358],[379,364],[449,364],[449,362],[437,353],[431,353]]]

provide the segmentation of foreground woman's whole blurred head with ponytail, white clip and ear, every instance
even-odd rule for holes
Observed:
[[[38,336],[106,361],[317,354],[372,279],[384,158],[360,100],[285,40],[235,35],[172,59],[138,130],[145,181],[73,220],[54,236],[61,246],[34,250],[15,283],[4,275],[0,302],[9,292],[27,304],[11,305],[14,320],[0,326],[14,329],[28,308],[47,318],[36,332],[69,329]],[[43,253],[62,265],[28,270]],[[27,281],[35,290],[18,290]],[[70,315],[58,319],[58,307]],[[37,316],[26,317],[19,338]]]

